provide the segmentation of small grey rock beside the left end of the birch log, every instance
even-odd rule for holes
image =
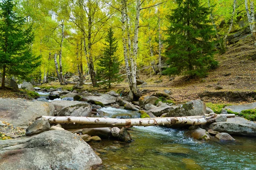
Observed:
[[[26,136],[39,134],[50,130],[50,124],[48,120],[44,117],[37,119],[28,128],[26,128]]]

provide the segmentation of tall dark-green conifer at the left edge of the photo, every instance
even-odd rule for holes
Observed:
[[[32,55],[31,46],[34,39],[32,27],[24,28],[25,20],[13,11],[13,0],[0,2],[0,69],[2,69],[2,88],[5,77],[24,78],[41,63],[41,56]]]

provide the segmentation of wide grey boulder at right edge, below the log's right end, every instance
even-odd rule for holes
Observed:
[[[242,117],[228,118],[227,122],[214,122],[209,128],[230,135],[256,136],[256,123]]]

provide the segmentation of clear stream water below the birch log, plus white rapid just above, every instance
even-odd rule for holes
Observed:
[[[111,115],[122,109],[103,108]],[[96,170],[256,170],[256,138],[233,136],[236,142],[201,142],[183,130],[132,127],[131,143],[102,140],[89,144],[100,153]]]

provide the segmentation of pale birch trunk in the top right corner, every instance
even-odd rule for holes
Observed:
[[[245,2],[246,14],[247,14],[247,18],[248,18],[248,22],[249,22],[249,26],[250,26],[250,31],[252,33],[253,43],[254,43],[254,46],[256,47],[256,27],[255,27],[255,16],[254,16],[254,2],[253,2],[253,0],[249,0],[250,11],[248,8],[248,0],[244,0],[244,2]]]

